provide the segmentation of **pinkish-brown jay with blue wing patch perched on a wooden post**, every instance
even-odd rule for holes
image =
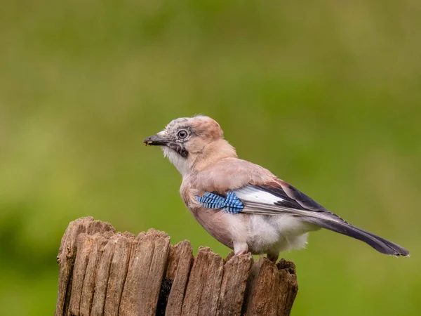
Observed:
[[[161,147],[182,176],[187,209],[234,256],[266,254],[276,263],[280,252],[305,248],[309,232],[321,228],[382,254],[409,256],[402,246],[351,225],[271,171],[239,159],[210,117],[174,119],[144,143]]]

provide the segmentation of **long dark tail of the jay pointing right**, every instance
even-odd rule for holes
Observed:
[[[345,220],[342,221],[342,218],[340,219],[341,220],[338,220],[338,218],[330,219],[307,217],[305,220],[321,228],[326,228],[328,230],[332,230],[333,232],[339,232],[342,235],[366,242],[382,254],[391,256],[409,256],[409,251],[399,246],[399,244],[389,242],[389,240],[374,235],[371,232],[367,232],[366,230],[362,230],[361,228],[357,228],[345,222]]]

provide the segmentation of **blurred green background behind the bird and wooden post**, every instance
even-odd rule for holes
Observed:
[[[321,231],[293,315],[420,315],[419,1],[2,1],[0,315],[52,315],[60,238],[81,216],[229,252],[142,140],[220,122],[243,159],[406,246]]]

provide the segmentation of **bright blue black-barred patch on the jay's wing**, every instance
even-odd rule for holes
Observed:
[[[206,209],[223,209],[227,213],[239,213],[244,209],[244,204],[235,195],[234,192],[229,191],[227,197],[215,195],[215,193],[205,192],[201,197],[196,197],[197,201]]]

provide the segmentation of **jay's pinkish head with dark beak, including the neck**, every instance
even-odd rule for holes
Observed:
[[[224,140],[220,124],[210,117],[174,119],[143,143],[161,146],[182,176],[189,173],[192,166],[201,166],[222,156],[236,157],[234,148]]]

